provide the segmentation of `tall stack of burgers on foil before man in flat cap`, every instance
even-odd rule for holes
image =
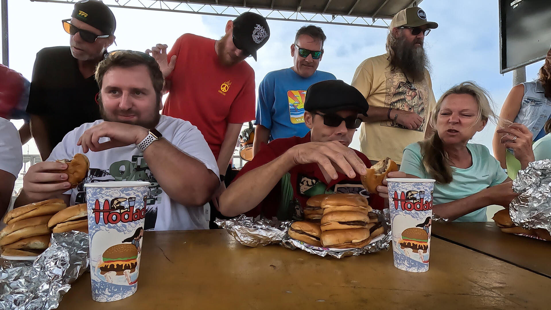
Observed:
[[[321,226],[314,222],[294,222],[289,227],[291,238],[318,247],[362,248],[384,232],[365,197],[358,194],[319,196],[323,197],[311,197],[307,207],[321,208]]]

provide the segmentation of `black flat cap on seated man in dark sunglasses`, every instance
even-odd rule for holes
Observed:
[[[368,116],[369,104],[358,89],[340,79],[329,79],[310,85],[306,90],[304,110],[309,112],[335,113],[356,110]]]

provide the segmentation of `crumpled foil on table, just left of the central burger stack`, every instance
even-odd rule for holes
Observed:
[[[242,245],[256,248],[259,245],[280,243],[293,221],[280,222],[275,218],[255,221],[254,218],[242,214],[231,220],[216,218],[214,223],[226,229]]]

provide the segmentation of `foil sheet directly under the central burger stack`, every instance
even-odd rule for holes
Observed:
[[[380,250],[388,250],[388,247],[392,243],[392,231],[390,227],[390,209],[384,209],[382,211],[373,210],[373,212],[379,215],[379,220],[382,222],[382,226],[385,227],[385,234],[382,238],[380,238],[380,236],[377,236],[375,239],[379,239],[379,240],[377,240],[374,243],[370,243],[363,248],[357,248],[357,249],[351,249],[351,250],[331,250],[328,248],[312,247],[309,244],[307,245],[304,243],[301,244],[300,242],[296,242],[296,240],[289,237],[287,233],[285,233],[285,238],[283,238],[281,245],[282,247],[288,248],[291,250],[298,248],[311,254],[320,255],[322,257],[329,255],[334,258],[343,258],[345,256],[375,253],[375,252],[379,252]]]

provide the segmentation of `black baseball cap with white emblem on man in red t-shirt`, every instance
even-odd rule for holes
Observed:
[[[251,54],[256,61],[256,51],[270,38],[266,18],[253,12],[245,12],[234,19],[234,45]]]

